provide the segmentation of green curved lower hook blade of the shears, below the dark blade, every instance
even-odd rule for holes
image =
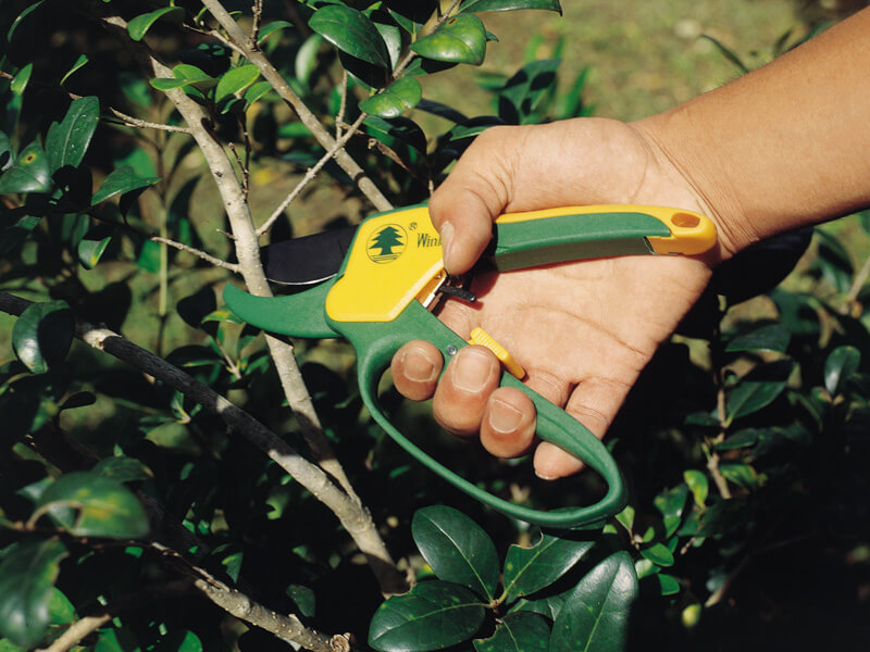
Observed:
[[[335,281],[286,297],[254,297],[233,284],[224,288],[224,302],[251,326],[291,337],[339,337],[330,328],[323,305]]]

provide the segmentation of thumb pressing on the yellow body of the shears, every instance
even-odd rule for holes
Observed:
[[[510,158],[515,154],[506,143],[511,131],[492,127],[477,136],[430,200],[449,274],[471,269],[492,238],[493,222],[510,201]]]

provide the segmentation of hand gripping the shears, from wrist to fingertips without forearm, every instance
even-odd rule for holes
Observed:
[[[576,204],[708,206],[644,133],[623,123],[581,118],[481,135],[433,195],[445,266],[471,268],[495,217]],[[525,383],[602,437],[638,374],[700,296],[711,261],[624,256],[475,274],[477,302],[448,301],[439,318],[468,339],[482,327],[526,369]],[[521,391],[499,388],[500,366],[470,346],[444,362],[415,340],[393,359],[396,388],[407,398],[434,396],[435,418],[460,437],[480,432],[490,453],[517,456],[534,441],[535,411]],[[558,478],[583,464],[540,442],[535,472]]]

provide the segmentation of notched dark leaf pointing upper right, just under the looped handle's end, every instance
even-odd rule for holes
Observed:
[[[511,546],[505,560],[505,591],[508,600],[548,587],[568,573],[594,541],[573,541],[544,535],[534,548]]]

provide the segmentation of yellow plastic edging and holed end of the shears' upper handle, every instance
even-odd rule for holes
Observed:
[[[547,217],[561,217],[562,215],[588,215],[592,213],[647,213],[671,229],[667,238],[648,237],[647,242],[656,253],[681,253],[683,255],[697,255],[709,251],[716,244],[716,226],[713,223],[693,211],[684,209],[669,209],[666,206],[644,206],[636,204],[600,204],[594,206],[562,206],[559,209],[545,209],[542,211],[527,211],[524,213],[508,213],[496,220],[499,224],[527,222],[530,220],[545,220]]]

